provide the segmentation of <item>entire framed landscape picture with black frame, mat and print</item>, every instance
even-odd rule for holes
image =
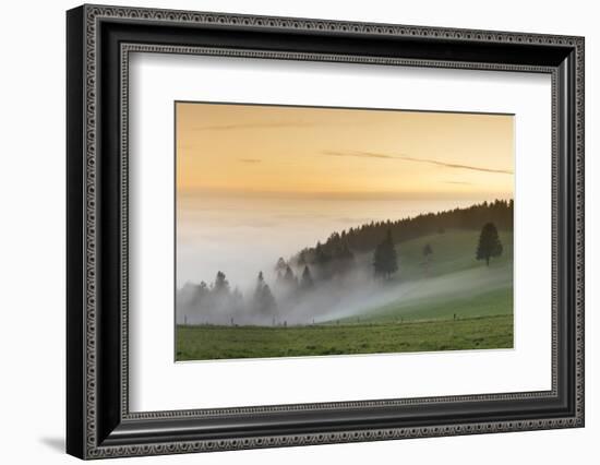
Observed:
[[[584,38],[67,13],[67,450],[584,426]]]

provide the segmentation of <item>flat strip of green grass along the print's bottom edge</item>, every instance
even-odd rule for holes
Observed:
[[[512,315],[314,326],[179,326],[177,360],[513,347]]]

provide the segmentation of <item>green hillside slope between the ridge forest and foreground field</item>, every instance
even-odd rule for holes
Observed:
[[[490,266],[475,258],[479,234],[448,230],[397,245],[393,301],[345,322],[473,318],[513,312],[513,233],[500,231],[503,254]],[[425,260],[423,248],[433,253]],[[367,261],[365,255],[362,260]]]

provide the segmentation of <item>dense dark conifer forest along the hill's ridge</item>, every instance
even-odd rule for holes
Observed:
[[[371,222],[361,226],[333,233],[328,239],[315,247],[305,248],[291,261],[298,265],[315,264],[333,266],[329,263],[341,262],[345,265],[353,252],[371,252],[381,243],[387,231],[394,243],[416,239],[431,234],[443,234],[446,229],[481,229],[482,225],[493,223],[499,229],[513,229],[514,201],[495,200],[454,208],[440,213],[425,213],[395,222]]]

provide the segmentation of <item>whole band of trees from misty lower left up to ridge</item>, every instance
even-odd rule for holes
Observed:
[[[396,222],[373,222],[341,233],[305,248],[289,260],[279,258],[273,269],[257,273],[253,287],[242,293],[231,287],[225,273],[217,272],[213,283],[188,283],[178,290],[178,322],[183,324],[309,324],[314,317],[374,282],[388,282],[398,271],[399,242],[446,229],[481,230],[473,243],[477,260],[487,264],[502,254],[497,229],[513,228],[513,201],[481,203],[436,214],[423,214]],[[496,229],[497,225],[497,229]],[[477,246],[477,249],[476,249]],[[422,250],[427,275],[430,255]],[[356,257],[360,254],[360,257]],[[368,258],[368,259],[367,259]],[[375,278],[375,279],[373,279]],[[397,279],[396,279],[397,281]]]

